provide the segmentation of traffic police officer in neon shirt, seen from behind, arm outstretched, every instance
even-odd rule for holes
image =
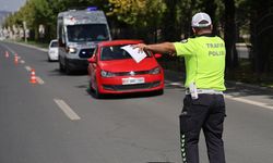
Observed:
[[[225,101],[223,91],[225,43],[212,35],[210,15],[200,12],[191,22],[193,38],[180,42],[140,43],[134,48],[185,57],[186,97],[180,114],[180,146],[183,163],[199,163],[199,136],[204,133],[210,163],[225,163],[223,123]]]

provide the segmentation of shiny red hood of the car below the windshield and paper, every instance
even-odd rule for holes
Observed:
[[[130,72],[130,71],[149,71],[156,66],[158,63],[154,58],[145,58],[136,63],[133,59],[115,60],[115,61],[100,61],[99,66],[104,71],[109,72]]]

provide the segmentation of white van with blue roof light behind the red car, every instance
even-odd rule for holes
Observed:
[[[96,45],[110,40],[111,36],[104,12],[88,8],[59,13],[57,38],[60,70],[70,74],[86,70]]]

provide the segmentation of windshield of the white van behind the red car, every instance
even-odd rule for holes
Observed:
[[[81,24],[68,26],[68,38],[71,42],[109,40],[106,24]]]

